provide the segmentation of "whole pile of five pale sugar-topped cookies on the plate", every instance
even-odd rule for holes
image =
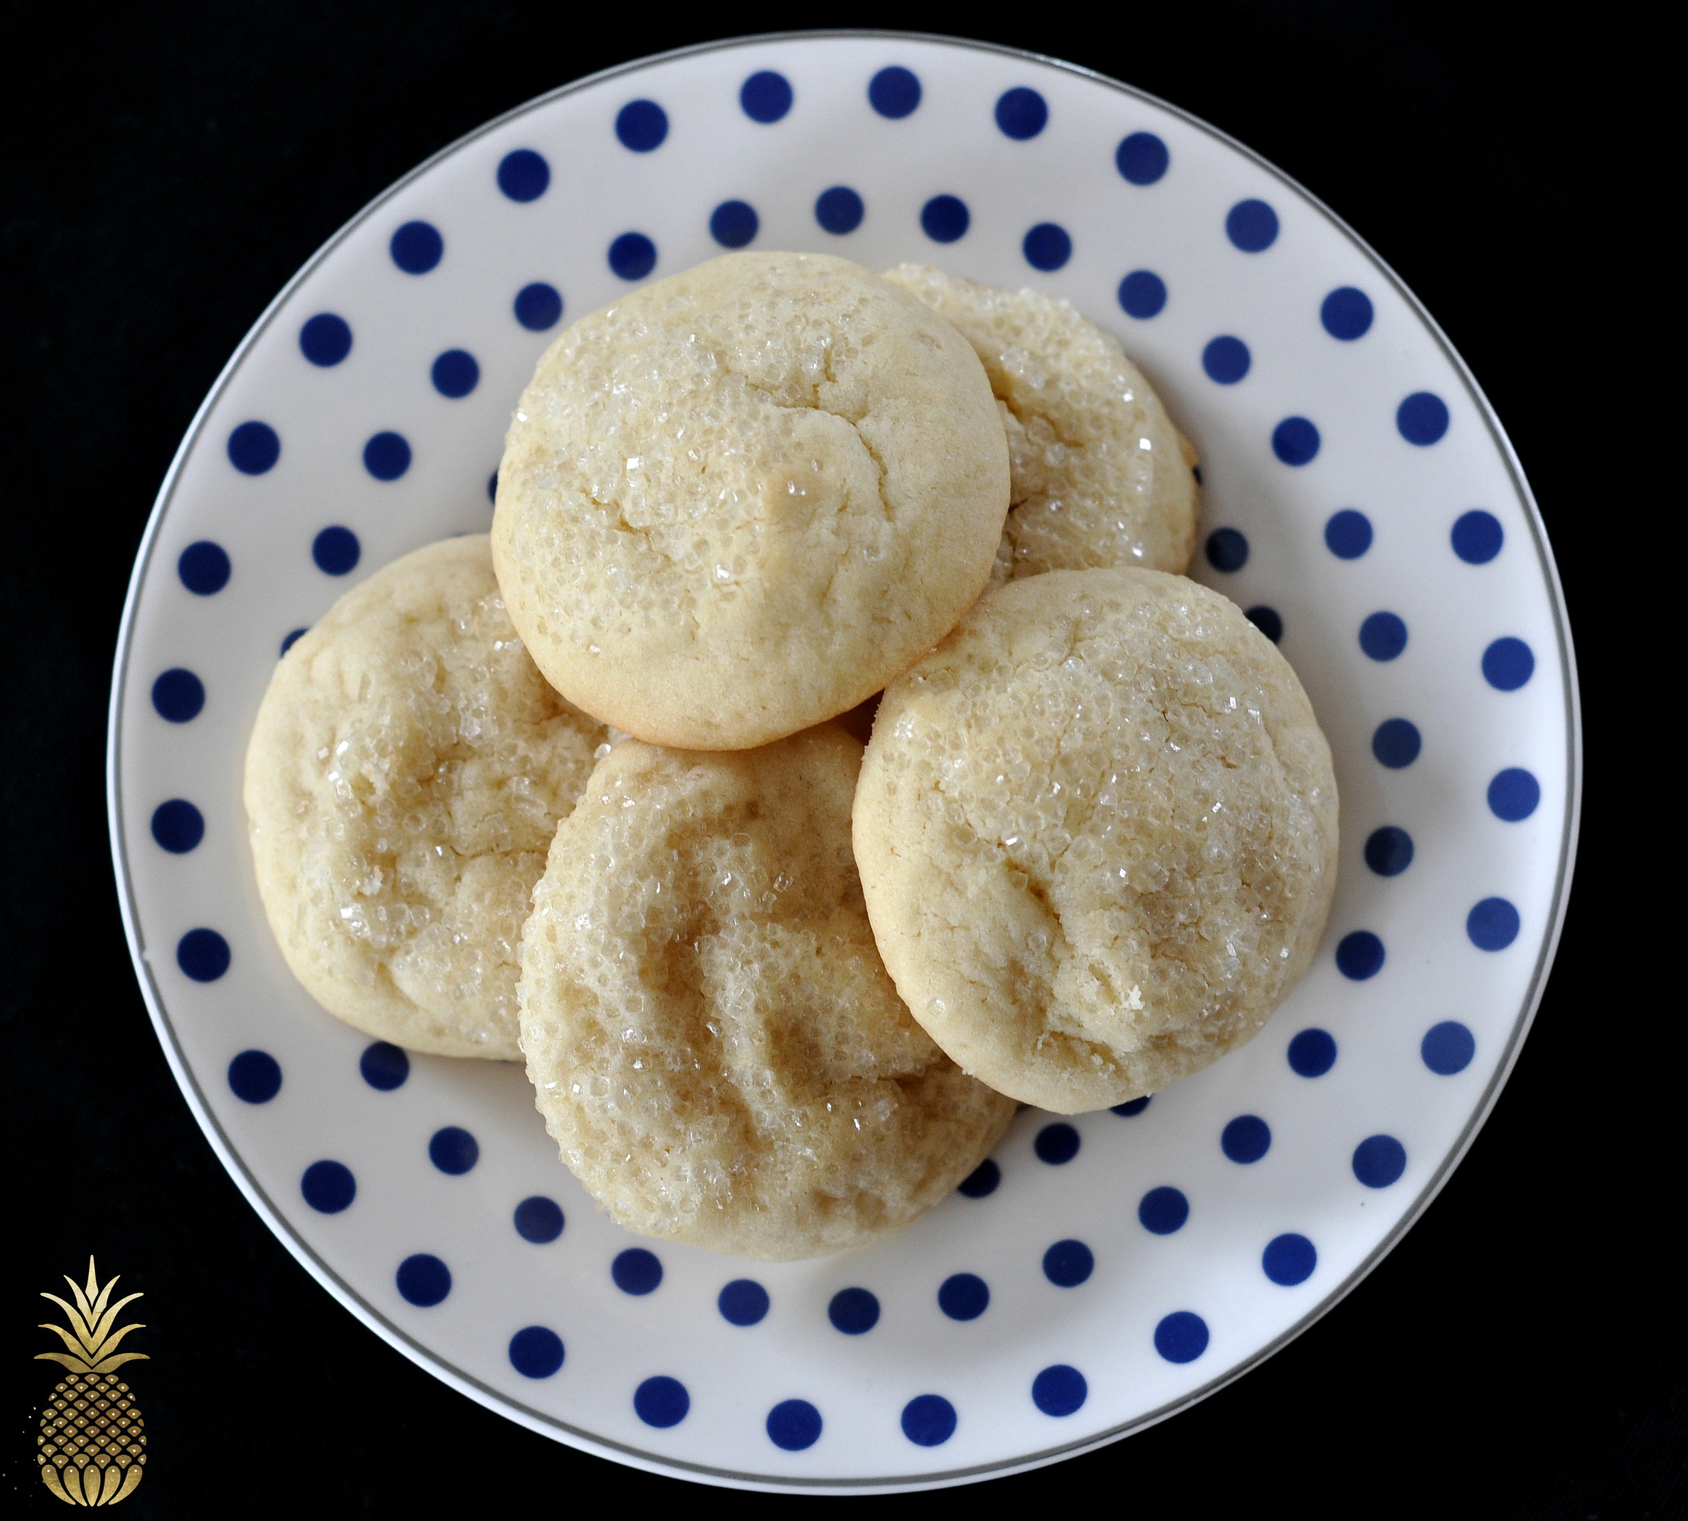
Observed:
[[[383,1040],[525,1058],[635,1231],[895,1231],[1016,1101],[1165,1087],[1312,959],[1330,751],[1183,577],[1197,512],[1062,302],[792,253],[648,285],[540,360],[491,539],[282,658],[246,810],[289,966]]]

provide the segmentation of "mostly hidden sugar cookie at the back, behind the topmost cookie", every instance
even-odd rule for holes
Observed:
[[[1107,566],[1188,569],[1195,449],[1112,336],[1035,290],[993,290],[918,263],[885,279],[959,327],[991,376],[1013,469],[993,584]]]

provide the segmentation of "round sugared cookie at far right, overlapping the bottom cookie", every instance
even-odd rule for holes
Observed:
[[[1053,571],[885,694],[856,859],[898,993],[962,1067],[1074,1114],[1249,1040],[1337,880],[1330,746],[1219,593]]]

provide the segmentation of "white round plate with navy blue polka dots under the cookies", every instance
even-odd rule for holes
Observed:
[[[559,324],[721,248],[930,260],[1067,297],[1202,452],[1197,574],[1278,640],[1342,788],[1342,880],[1258,1040],[1151,1101],[1023,1112],[901,1236],[817,1263],[640,1241],[515,1065],[368,1045],[289,976],[241,756],[285,643],[484,530]],[[1482,1123],[1577,824],[1563,603],[1504,434],[1323,206],[1138,91],[1004,49],[807,35],[631,64],[471,133],[287,285],[196,417],[130,587],[111,839],[211,1145],[360,1320],[557,1440],[709,1482],[888,1491],[1053,1462],[1330,1308]]]

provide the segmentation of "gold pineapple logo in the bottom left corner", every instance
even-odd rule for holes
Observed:
[[[78,1288],[69,1276],[64,1281],[71,1285],[74,1305],[56,1293],[42,1293],[42,1298],[64,1312],[69,1330],[51,1322],[42,1322],[41,1329],[54,1332],[66,1350],[37,1352],[35,1361],[62,1362],[71,1372],[59,1379],[41,1411],[35,1462],[41,1464],[41,1482],[68,1506],[115,1506],[135,1492],[147,1464],[140,1410],[130,1399],[128,1384],[116,1376],[125,1362],[147,1354],[115,1350],[123,1337],[142,1329],[135,1322],[116,1325],[122,1308],[140,1295],[110,1303],[116,1278],[101,1288],[93,1258],[88,1259],[84,1286]]]

